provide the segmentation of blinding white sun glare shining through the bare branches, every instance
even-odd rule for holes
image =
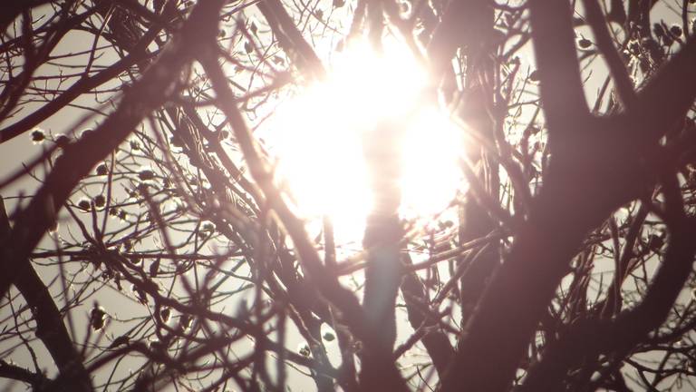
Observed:
[[[401,216],[443,211],[461,183],[461,130],[423,99],[428,73],[403,45],[352,44],[321,83],[281,103],[261,131],[297,210],[329,215],[337,242],[359,241],[372,207],[362,138],[377,123],[407,119],[401,158]]]

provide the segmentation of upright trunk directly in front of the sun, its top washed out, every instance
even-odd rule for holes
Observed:
[[[364,390],[405,389],[391,354],[396,339],[395,301],[401,285],[400,130],[401,124],[384,124],[363,142],[373,207],[362,240],[367,252],[362,307],[365,327],[376,343],[366,345],[362,352],[360,382]]]

